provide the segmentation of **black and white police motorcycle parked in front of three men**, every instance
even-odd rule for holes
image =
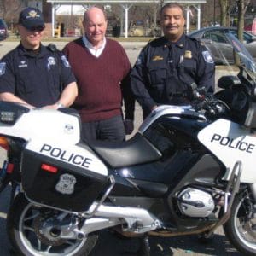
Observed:
[[[224,226],[256,253],[256,66],[236,38],[237,75],[216,96],[160,106],[124,143],[86,143],[69,109],[0,102],[0,185],[12,186],[9,241],[19,255],[89,255],[100,230],[122,236],[201,234]],[[229,68],[229,67],[228,67]],[[228,72],[227,72],[228,73]]]

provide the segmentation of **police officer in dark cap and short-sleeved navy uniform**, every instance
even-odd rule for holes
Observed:
[[[20,13],[20,44],[0,61],[0,100],[32,107],[64,108],[78,94],[71,67],[61,51],[41,44],[44,18],[35,8]]]

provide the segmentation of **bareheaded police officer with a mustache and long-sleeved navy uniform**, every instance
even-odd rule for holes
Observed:
[[[214,89],[214,62],[207,49],[184,34],[184,10],[166,3],[160,10],[164,36],[148,43],[131,71],[131,88],[143,119],[160,104],[189,103],[195,87]]]

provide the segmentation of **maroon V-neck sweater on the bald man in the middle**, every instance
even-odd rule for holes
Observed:
[[[79,86],[79,96],[73,108],[79,110],[82,122],[121,114],[122,96],[125,119],[133,119],[135,100],[130,86],[130,61],[118,42],[107,38],[106,43],[98,58],[84,47],[82,38],[68,43],[63,49]]]

